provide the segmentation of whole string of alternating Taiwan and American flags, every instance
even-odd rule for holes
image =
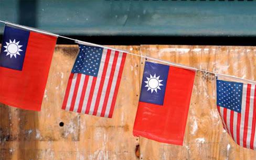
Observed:
[[[67,37],[5,24],[0,52],[0,102],[40,111],[57,38]],[[79,45],[79,53],[62,109],[112,118],[126,55],[133,53],[74,41]],[[165,64],[145,62],[133,135],[183,145],[196,71],[209,71],[143,57]],[[256,150],[256,83],[209,73],[216,75],[216,109],[223,128],[238,145]],[[223,76],[242,79],[243,83],[226,81]]]

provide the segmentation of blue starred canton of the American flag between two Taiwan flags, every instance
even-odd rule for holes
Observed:
[[[97,77],[103,48],[79,44],[79,50],[71,72]]]

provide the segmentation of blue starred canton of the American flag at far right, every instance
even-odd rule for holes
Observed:
[[[243,84],[217,80],[217,106],[241,112]]]

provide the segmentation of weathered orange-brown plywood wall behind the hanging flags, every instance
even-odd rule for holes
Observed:
[[[188,45],[115,46],[209,71],[256,79],[256,47]],[[128,55],[112,119],[61,110],[78,52],[57,45],[41,112],[0,106],[0,159],[255,159],[223,130],[215,106],[215,77],[197,72],[184,146],[132,135],[144,59]],[[63,127],[59,123],[63,122]],[[137,146],[137,147],[136,147]]]

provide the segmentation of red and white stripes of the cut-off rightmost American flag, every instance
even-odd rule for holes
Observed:
[[[255,84],[243,84],[241,113],[219,107],[223,128],[240,146],[256,150],[256,88]]]

